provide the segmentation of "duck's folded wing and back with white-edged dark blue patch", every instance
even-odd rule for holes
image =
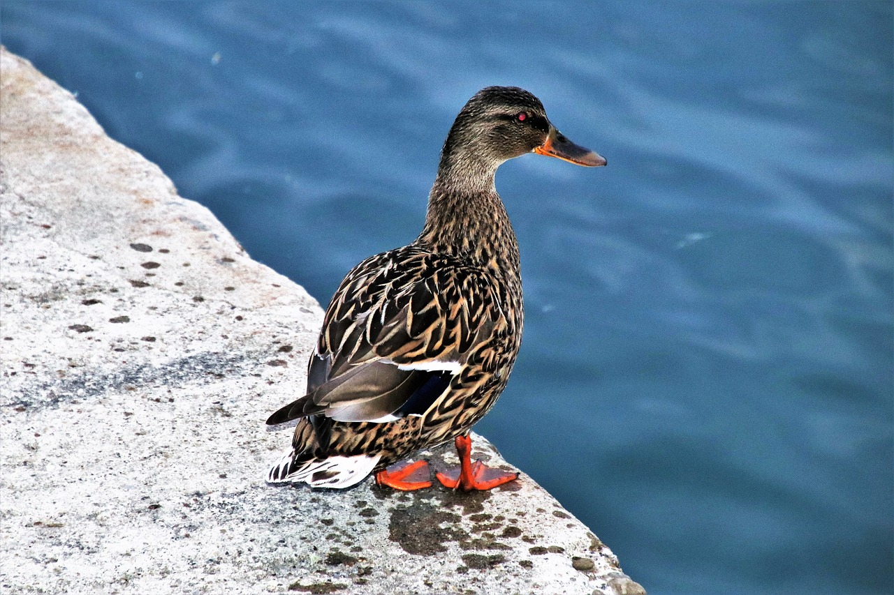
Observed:
[[[496,295],[485,272],[455,257],[410,246],[368,258],[348,273],[326,310],[307,394],[267,423],[424,414],[502,319]]]

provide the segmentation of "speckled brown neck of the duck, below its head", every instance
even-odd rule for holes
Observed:
[[[499,164],[445,148],[416,243],[519,280],[519,244],[493,185]]]

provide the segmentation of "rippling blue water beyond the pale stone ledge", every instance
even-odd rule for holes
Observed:
[[[468,96],[533,91],[609,166],[499,172],[526,335],[477,430],[652,593],[894,591],[890,2],[0,16],[6,46],[324,304],[415,238]]]

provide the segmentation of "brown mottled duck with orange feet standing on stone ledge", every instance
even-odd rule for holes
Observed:
[[[468,432],[506,386],[524,317],[519,245],[493,174],[531,152],[605,164],[524,89],[468,100],[444,142],[422,233],[348,273],[310,356],[307,394],[267,420],[299,419],[268,482],[347,488],[375,471],[380,485],[417,490],[431,485],[425,461],[386,467],[451,439],[460,469],[437,473],[445,486],[489,490],[517,477],[473,465]]]

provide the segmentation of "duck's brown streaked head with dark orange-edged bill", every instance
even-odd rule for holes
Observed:
[[[606,163],[556,130],[533,94],[518,87],[487,87],[468,100],[453,122],[441,168],[459,168],[466,176],[483,168],[480,174],[493,176],[501,163],[526,153],[587,167]]]

